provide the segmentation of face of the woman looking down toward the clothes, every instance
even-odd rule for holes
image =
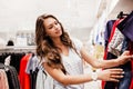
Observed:
[[[60,23],[53,18],[44,19],[45,32],[51,38],[57,38],[62,34]]]

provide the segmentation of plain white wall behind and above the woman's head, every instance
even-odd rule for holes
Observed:
[[[94,24],[100,1],[0,0],[0,32],[7,32],[4,39],[10,39],[18,30],[34,31],[38,16],[52,13],[72,36],[85,39],[82,34],[88,37],[90,28]]]

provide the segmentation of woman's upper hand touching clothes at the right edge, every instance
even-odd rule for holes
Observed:
[[[133,56],[130,55],[130,51],[124,51],[117,59],[117,63],[119,65],[124,65],[127,61],[130,61],[131,59],[133,59]]]

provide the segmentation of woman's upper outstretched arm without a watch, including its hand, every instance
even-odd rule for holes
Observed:
[[[90,63],[94,68],[110,68],[110,67],[116,67],[120,65],[124,65],[125,62],[133,59],[133,56],[129,55],[129,51],[125,51],[122,56],[120,56],[117,59],[112,60],[98,60],[93,56],[90,56],[85,48],[82,47],[81,55],[83,59]]]

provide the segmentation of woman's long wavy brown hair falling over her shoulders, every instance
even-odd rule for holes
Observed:
[[[37,55],[41,59],[44,58],[47,63],[50,67],[59,68],[63,72],[65,72],[65,69],[62,65],[61,56],[59,52],[59,48],[54,46],[52,39],[49,36],[47,36],[47,32],[45,32],[44,20],[48,18],[53,18],[60,23],[62,29],[62,34],[60,39],[62,43],[75,50],[74,44],[72,43],[68,32],[64,31],[61,22],[52,14],[42,14],[37,19],[37,23],[35,23]]]

